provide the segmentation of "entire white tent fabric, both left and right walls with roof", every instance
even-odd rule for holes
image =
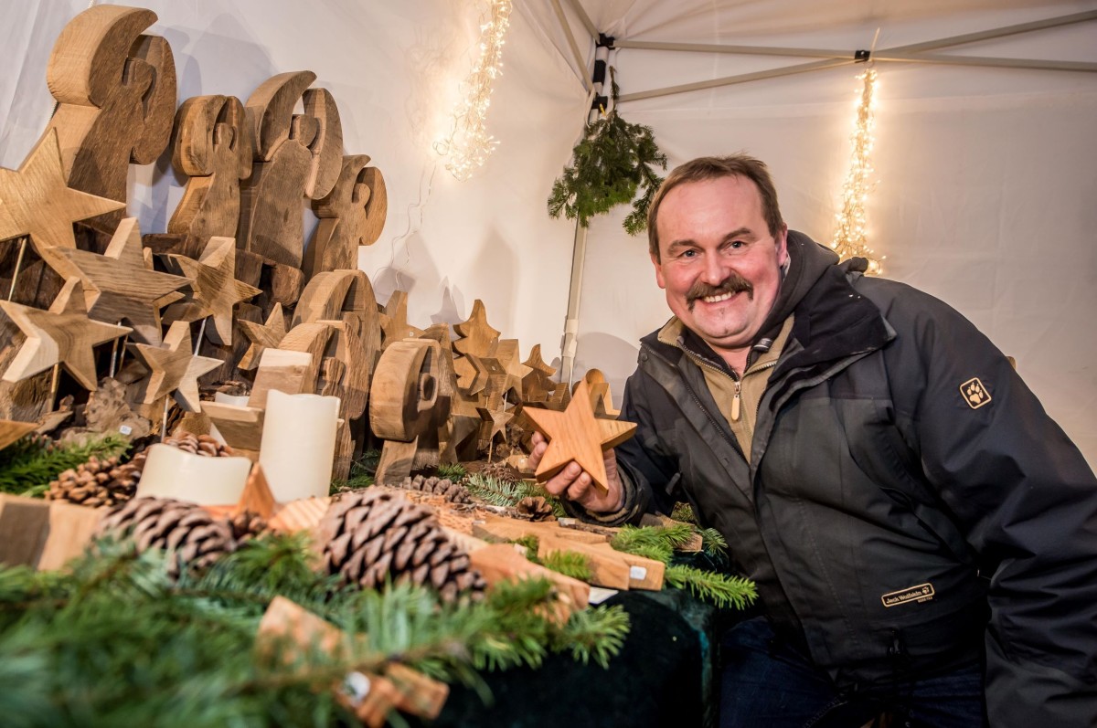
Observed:
[[[143,3],[172,46],[180,100],[246,100],[270,76],[309,69],[339,103],[347,153],[385,174],[389,212],[360,263],[381,300],[409,292],[409,319],[455,322],[475,298],[493,326],[557,355],[574,225],[545,200],[589,106],[593,33],[626,42],[877,50],[1097,10],[1018,0],[514,0],[488,128],[499,148],[455,181],[433,143],[452,123],[486,0],[400,3],[214,0]],[[53,107],[45,65],[83,0],[0,10],[0,164],[18,167]],[[589,25],[586,20],[589,20]],[[561,16],[570,30],[575,48]],[[879,33],[879,35],[878,35]],[[1097,21],[935,49],[935,54],[1097,62]],[[883,54],[881,54],[883,55]],[[776,177],[790,226],[828,241],[849,161],[861,66],[627,101],[651,89],[740,76],[812,57],[611,54],[630,122],[654,128],[671,166],[747,150]],[[867,211],[884,274],[971,318],[1097,464],[1097,73],[878,61],[878,186]],[[162,231],[182,194],[168,157],[134,168],[131,213]],[[638,338],[669,315],[646,239],[626,209],[591,225],[576,369],[602,369],[620,397]],[[310,217],[306,214],[306,219]]]

